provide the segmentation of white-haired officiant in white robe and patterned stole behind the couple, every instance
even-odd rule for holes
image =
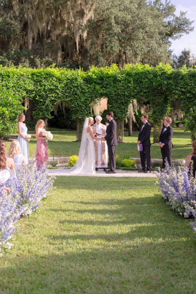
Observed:
[[[101,123],[102,117],[97,115],[96,123],[91,127],[93,130],[93,135],[96,137],[105,137],[106,135],[106,126]],[[100,134],[100,135],[97,135]],[[106,141],[95,141],[95,157],[96,157],[96,166],[95,169],[98,171],[98,168],[103,168],[104,171],[107,171],[108,167],[108,146]]]

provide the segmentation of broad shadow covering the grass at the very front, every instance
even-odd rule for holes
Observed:
[[[14,258],[13,266],[0,269],[1,293],[195,293],[196,246],[191,239],[139,245],[117,239],[88,249],[80,244],[78,240],[72,251],[60,247],[61,254]]]

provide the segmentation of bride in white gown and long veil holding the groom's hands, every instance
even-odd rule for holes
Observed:
[[[65,173],[96,173],[94,140],[102,139],[93,136],[91,128],[93,123],[94,120],[91,116],[85,118],[78,160],[75,166],[65,171]]]

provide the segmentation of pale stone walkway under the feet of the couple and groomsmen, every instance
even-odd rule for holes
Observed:
[[[65,173],[64,172],[65,169],[64,167],[60,167],[57,169],[49,169],[48,170],[48,175],[51,176],[86,176],[86,177],[142,177],[142,178],[156,178],[156,175],[154,174],[154,172],[152,171],[151,173],[138,173],[138,171],[122,171],[117,169],[116,173],[111,173],[111,174],[107,174],[105,173],[105,171],[96,171],[96,174],[79,174],[79,173],[75,173],[75,174],[69,174],[69,173]]]

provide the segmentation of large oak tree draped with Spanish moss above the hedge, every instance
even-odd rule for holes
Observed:
[[[0,63],[88,69],[169,62],[171,39],[193,30],[160,0],[2,0]]]

